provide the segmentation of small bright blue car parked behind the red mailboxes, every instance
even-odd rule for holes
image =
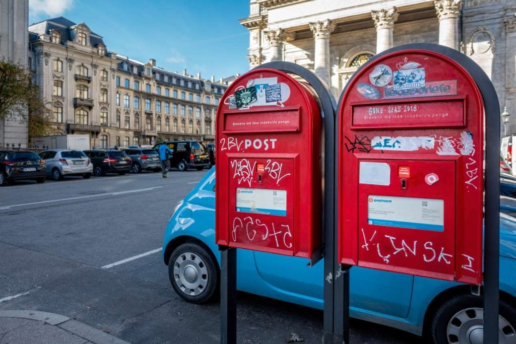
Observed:
[[[170,282],[185,300],[203,303],[218,293],[215,244],[215,169],[174,210],[163,242]],[[507,214],[504,214],[504,211]],[[516,343],[516,200],[500,215],[501,343]],[[238,250],[238,290],[322,309],[323,264]],[[482,341],[482,299],[468,285],[360,267],[351,268],[350,315],[424,335],[436,343]],[[479,341],[478,341],[479,340]]]

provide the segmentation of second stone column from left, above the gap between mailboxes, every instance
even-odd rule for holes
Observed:
[[[336,24],[327,19],[309,25],[315,39],[314,72],[330,86],[330,34]]]

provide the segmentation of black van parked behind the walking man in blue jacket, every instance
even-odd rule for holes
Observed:
[[[202,170],[209,167],[209,153],[206,145],[201,141],[168,141],[156,144],[157,150],[162,144],[167,144],[172,150],[170,167],[176,167],[180,171],[186,169]]]

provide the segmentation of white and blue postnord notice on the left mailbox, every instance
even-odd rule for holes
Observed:
[[[287,216],[287,191],[237,188],[236,211]]]

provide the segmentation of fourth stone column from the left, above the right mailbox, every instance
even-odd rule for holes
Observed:
[[[459,48],[459,15],[462,0],[433,0],[439,18],[439,44]]]

